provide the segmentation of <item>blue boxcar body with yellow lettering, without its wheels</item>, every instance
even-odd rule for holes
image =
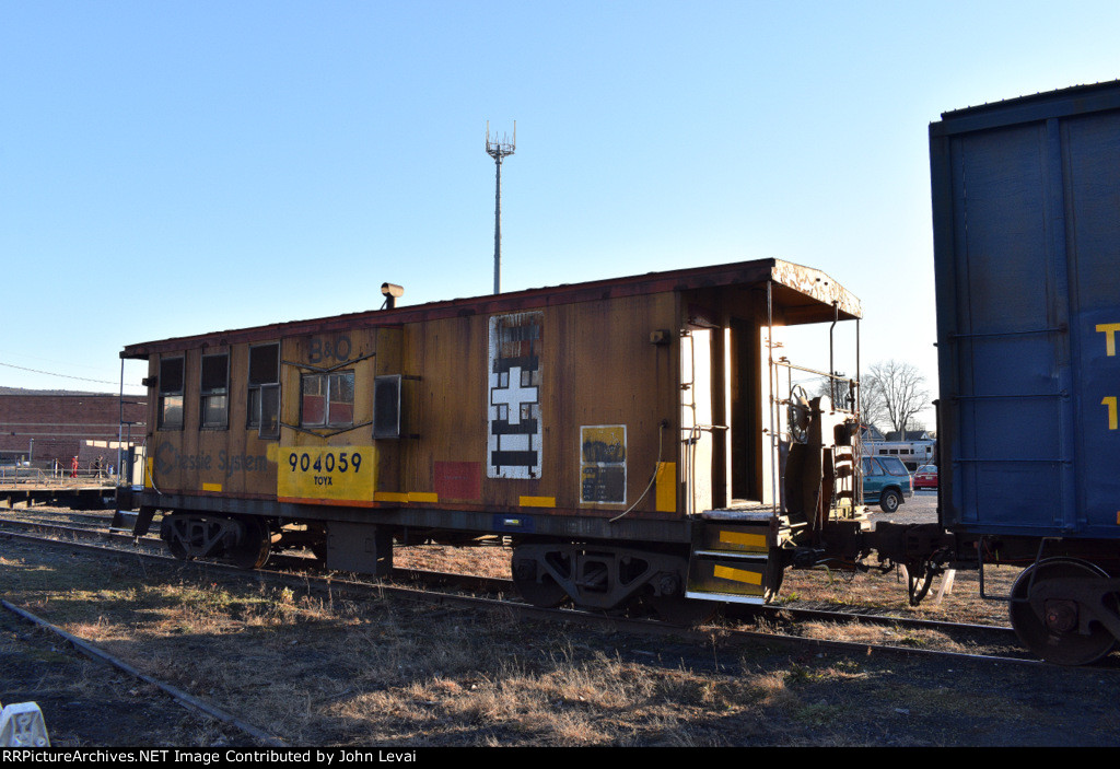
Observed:
[[[930,126],[941,515],[1120,537],[1120,82]]]

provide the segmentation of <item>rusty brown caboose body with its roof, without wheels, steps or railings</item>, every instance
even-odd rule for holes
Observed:
[[[823,273],[758,260],[127,347],[152,378],[141,519],[174,509],[687,543],[690,514],[768,506],[780,482],[769,322],[858,309]],[[687,337],[699,386],[682,363]],[[279,358],[263,437],[248,416],[252,372],[264,401],[258,347]],[[223,354],[227,419],[203,428],[204,360]],[[179,375],[169,366],[181,379],[174,429],[159,422],[169,358],[183,363]],[[339,405],[345,420],[324,420],[324,393],[300,383],[335,375],[354,398]],[[400,393],[399,437],[386,437],[396,411],[388,432],[377,422],[386,401],[375,390]],[[685,435],[694,406],[700,429]]]

